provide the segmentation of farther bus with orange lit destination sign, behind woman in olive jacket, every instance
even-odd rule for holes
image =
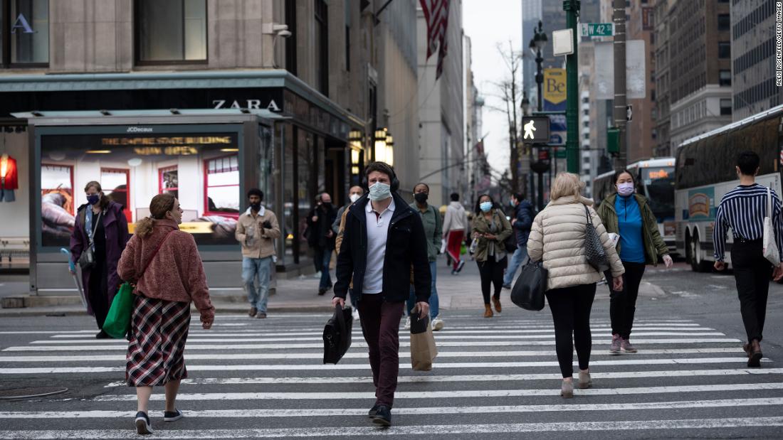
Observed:
[[[669,253],[677,253],[674,242],[674,158],[640,160],[626,169],[633,173],[637,193],[649,200],[652,213],[658,220],[658,231],[669,246]],[[614,177],[614,171],[595,177],[593,197],[596,207],[607,195],[615,192]]]

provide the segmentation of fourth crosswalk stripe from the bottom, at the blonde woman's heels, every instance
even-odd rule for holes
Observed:
[[[693,377],[693,376],[742,376],[746,374],[783,374],[783,368],[737,369],[737,370],[657,370],[619,371],[616,373],[591,373],[596,379],[633,379],[645,377]],[[444,376],[399,376],[399,383],[436,382],[495,382],[495,381],[546,381],[561,380],[559,373],[544,374],[463,374]],[[351,377],[353,383],[373,383],[373,377]],[[182,385],[258,385],[258,384],[334,384],[334,377],[197,377],[182,379]],[[124,381],[111,382],[103,388],[127,387]]]

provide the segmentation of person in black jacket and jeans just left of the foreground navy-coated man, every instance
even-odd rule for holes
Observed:
[[[316,254],[313,257],[316,262],[316,271],[321,273],[318,295],[325,294],[332,287],[329,263],[332,261],[334,238],[337,235],[332,231],[332,224],[336,218],[337,210],[332,206],[332,198],[326,192],[321,194],[320,204],[313,208],[307,216],[307,225],[310,231],[308,241]]]

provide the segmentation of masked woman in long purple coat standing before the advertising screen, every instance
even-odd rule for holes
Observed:
[[[128,242],[128,220],[122,205],[106,197],[98,182],[89,182],[85,195],[87,204],[79,206],[70,234],[70,256],[78,264],[82,252],[92,248],[94,263],[81,268],[81,285],[85,286],[87,313],[96,317],[100,329],[96,338],[110,338],[103,331],[103,321],[120,285],[117,262]]]

